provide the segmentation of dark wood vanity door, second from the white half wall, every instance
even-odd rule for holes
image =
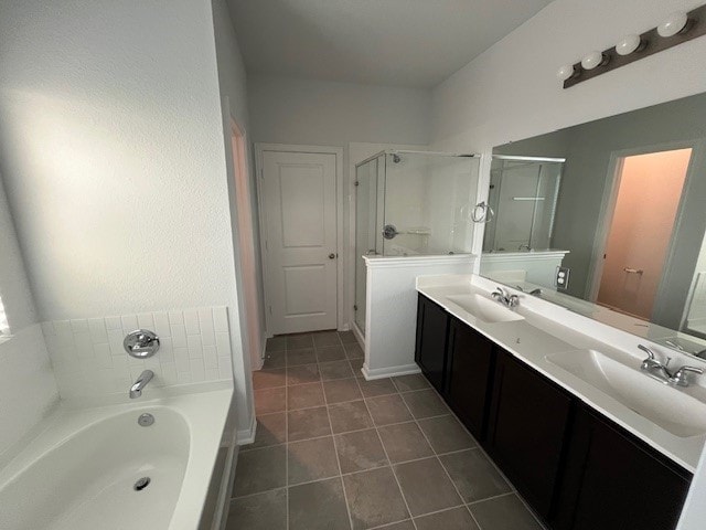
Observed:
[[[451,317],[447,363],[447,401],[466,427],[482,439],[494,368],[493,342]]]

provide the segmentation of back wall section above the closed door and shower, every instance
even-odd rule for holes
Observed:
[[[429,140],[428,89],[252,75],[255,141],[335,145]]]

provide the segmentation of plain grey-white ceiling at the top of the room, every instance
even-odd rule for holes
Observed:
[[[431,87],[552,0],[228,0],[249,73]]]

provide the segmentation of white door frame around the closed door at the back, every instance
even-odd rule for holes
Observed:
[[[344,274],[347,253],[343,246],[343,148],[332,146],[300,146],[296,144],[255,144],[255,168],[257,174],[257,209],[260,232],[260,256],[263,259],[263,285],[265,290],[265,332],[267,337],[272,337],[272,314],[271,314],[271,287],[268,285],[267,271],[267,223],[265,219],[265,208],[263,201],[263,156],[266,151],[277,152],[301,152],[309,155],[335,155],[335,252],[336,259],[336,329],[344,330],[345,315],[344,306]]]

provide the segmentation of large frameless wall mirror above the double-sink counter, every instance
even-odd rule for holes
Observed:
[[[493,149],[481,275],[706,358],[706,94]]]

